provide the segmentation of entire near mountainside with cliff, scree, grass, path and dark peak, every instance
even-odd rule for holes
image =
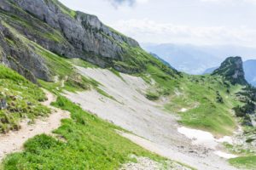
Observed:
[[[255,169],[240,57],[179,72],[57,0],[0,0],[0,19],[0,169]]]

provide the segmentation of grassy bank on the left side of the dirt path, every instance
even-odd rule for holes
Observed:
[[[45,99],[44,92],[3,65],[0,65],[0,92],[0,99],[8,103],[8,108],[0,111],[0,133],[19,129],[21,118],[33,121],[49,113],[49,109],[39,103]]]

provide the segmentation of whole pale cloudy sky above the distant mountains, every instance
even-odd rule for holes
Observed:
[[[256,44],[256,0],[60,0],[138,42]]]

